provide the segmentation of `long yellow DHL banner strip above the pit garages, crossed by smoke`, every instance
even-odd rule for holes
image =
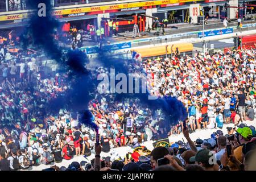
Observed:
[[[199,0],[199,1],[202,1],[202,0]],[[193,2],[193,1],[192,0],[159,0],[159,1],[120,3],[118,5],[89,6],[89,7],[80,7],[80,8],[76,8],[76,9],[53,10],[52,15],[57,16],[57,15],[67,15],[67,14],[79,14],[79,13],[89,13],[89,12],[93,12],[93,11],[130,9],[133,7],[168,5],[168,4],[185,3],[185,2]],[[25,18],[27,18],[27,15],[28,15],[27,13],[2,15],[2,16],[0,16],[0,22],[25,19]]]

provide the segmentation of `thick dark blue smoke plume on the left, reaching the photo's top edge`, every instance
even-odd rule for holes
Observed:
[[[38,16],[39,3],[46,5],[46,16]],[[51,15],[51,0],[31,0],[28,7],[36,11],[30,16],[28,27],[21,36],[24,48],[32,45],[42,49],[48,57],[56,60],[64,73],[67,73],[66,81],[71,84],[68,92],[51,101],[48,107],[54,113],[57,113],[63,106],[74,113],[88,109],[88,103],[93,99],[94,92],[92,74],[86,68],[86,63],[89,63],[88,57],[78,49],[65,50],[55,40],[60,23]],[[82,122],[90,125],[90,119],[86,117],[88,113],[81,118]]]

